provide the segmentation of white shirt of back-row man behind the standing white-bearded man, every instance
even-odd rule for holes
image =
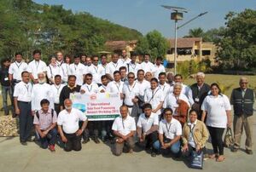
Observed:
[[[27,72],[32,73],[32,76],[34,79],[38,79],[38,73],[39,72],[45,72],[46,71],[46,63],[43,60],[32,60],[28,64]]]

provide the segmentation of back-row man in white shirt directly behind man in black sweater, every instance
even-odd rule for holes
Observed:
[[[87,66],[80,63],[80,57],[75,56],[73,64],[69,66],[69,74],[77,77],[76,84],[81,86],[84,83],[84,75],[88,72]]]

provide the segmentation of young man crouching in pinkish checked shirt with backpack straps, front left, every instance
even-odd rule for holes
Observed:
[[[40,105],[42,109],[36,112],[33,123],[38,132],[42,148],[49,147],[49,151],[55,152],[57,114],[54,109],[49,108],[49,100],[41,100]]]

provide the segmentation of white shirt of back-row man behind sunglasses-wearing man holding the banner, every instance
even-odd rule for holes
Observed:
[[[105,75],[105,68],[101,65],[91,65],[88,67],[88,72],[93,76],[92,81],[94,83],[102,83],[102,75]]]

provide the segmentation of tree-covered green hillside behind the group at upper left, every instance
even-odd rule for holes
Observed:
[[[119,26],[88,13],[76,13],[61,5],[40,5],[32,0],[0,1],[0,55],[21,51],[31,58],[33,49],[43,57],[62,50],[67,54],[96,54],[107,40],[142,37],[136,30]]]

